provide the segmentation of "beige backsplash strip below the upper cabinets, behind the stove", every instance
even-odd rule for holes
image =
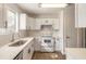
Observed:
[[[45,35],[51,35],[52,37],[58,37],[58,30],[27,30],[27,37],[41,37]]]

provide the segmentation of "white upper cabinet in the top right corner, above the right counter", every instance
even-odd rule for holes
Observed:
[[[86,3],[75,4],[75,27],[86,27]]]

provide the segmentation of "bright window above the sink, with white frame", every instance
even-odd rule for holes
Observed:
[[[7,28],[11,33],[19,31],[19,13],[9,9],[7,10]]]

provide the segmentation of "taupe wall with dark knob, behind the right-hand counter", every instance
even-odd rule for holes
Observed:
[[[75,4],[70,4],[64,9],[64,42],[66,47],[81,47],[81,36],[82,29],[75,28]]]

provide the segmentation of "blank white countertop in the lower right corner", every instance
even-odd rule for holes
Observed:
[[[66,48],[66,60],[86,60],[86,48]]]

